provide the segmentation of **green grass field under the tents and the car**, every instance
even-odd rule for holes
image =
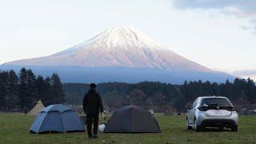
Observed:
[[[102,134],[86,139],[86,133],[29,134],[33,116],[0,113],[0,143],[256,143],[256,116],[240,116],[238,132],[186,130],[185,116],[156,114],[160,134]]]

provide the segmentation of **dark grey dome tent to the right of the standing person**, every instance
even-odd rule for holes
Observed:
[[[158,122],[140,106],[116,110],[106,124],[104,133],[160,133]]]

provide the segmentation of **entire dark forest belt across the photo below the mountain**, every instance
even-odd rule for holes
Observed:
[[[82,105],[89,84],[64,83],[58,74],[49,78],[35,76],[32,70],[22,68],[0,71],[0,110],[30,110],[39,99],[45,106],[65,103]],[[184,82],[174,85],[162,82],[139,82],[136,84],[106,82],[97,85],[107,109],[130,104],[146,106],[155,111],[183,111],[188,103],[199,96],[216,95],[230,98],[239,108],[256,108],[256,86],[253,80],[235,78],[234,82]]]

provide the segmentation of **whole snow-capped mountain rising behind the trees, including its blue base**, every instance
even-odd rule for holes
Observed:
[[[57,72],[63,82],[225,82],[233,76],[175,54],[130,26],[116,26],[88,41],[41,58],[6,62],[0,69],[26,67],[36,74]]]

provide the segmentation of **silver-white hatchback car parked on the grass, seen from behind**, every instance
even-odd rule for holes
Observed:
[[[226,97],[198,97],[193,106],[188,107],[186,126],[189,130],[194,127],[195,131],[206,127],[227,127],[238,131],[238,113]]]

